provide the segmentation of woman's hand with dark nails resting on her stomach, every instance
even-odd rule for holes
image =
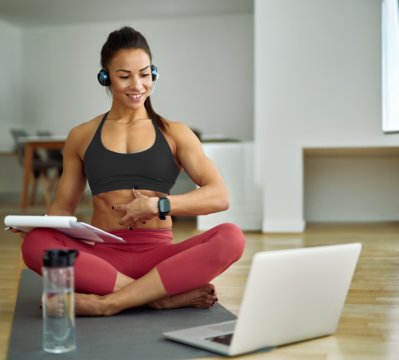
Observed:
[[[134,229],[139,221],[145,223],[157,215],[158,211],[158,197],[148,197],[143,195],[139,190],[133,189],[133,196],[135,199],[128,204],[119,204],[112,207],[116,211],[126,211],[126,215],[119,220],[119,224],[124,225],[129,220],[130,226]]]

